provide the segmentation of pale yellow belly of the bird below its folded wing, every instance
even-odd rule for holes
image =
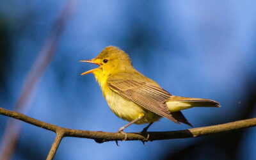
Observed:
[[[141,115],[145,115],[135,124],[147,124],[150,122],[156,122],[161,118],[161,116],[158,116],[147,109],[141,108],[138,104],[135,104],[131,100],[124,99],[122,96],[118,95],[118,93],[113,91],[108,92],[108,94],[105,95],[105,98],[113,113],[123,120],[131,122],[132,120],[139,118]]]

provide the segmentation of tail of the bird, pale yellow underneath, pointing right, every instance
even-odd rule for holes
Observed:
[[[193,107],[220,107],[220,104],[214,100],[179,97],[174,95],[166,102],[166,105],[171,112]]]

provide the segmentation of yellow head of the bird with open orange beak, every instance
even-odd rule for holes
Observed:
[[[93,73],[98,81],[104,77],[109,77],[115,73],[124,72],[133,68],[128,54],[114,46],[104,48],[100,54],[92,60],[81,61],[99,65],[98,68],[81,74]]]

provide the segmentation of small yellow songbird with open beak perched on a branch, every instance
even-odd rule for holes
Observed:
[[[99,65],[98,68],[81,75],[93,73],[111,111],[129,122],[118,129],[118,132],[124,134],[124,140],[127,139],[124,129],[131,124],[148,124],[142,131],[147,132],[150,125],[164,117],[175,124],[181,122],[193,127],[182,114],[182,110],[220,107],[214,100],[172,95],[138,72],[132,66],[129,55],[115,46],[105,47],[96,58],[81,62]]]

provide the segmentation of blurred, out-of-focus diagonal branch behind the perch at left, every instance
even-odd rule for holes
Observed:
[[[22,91],[20,92],[14,107],[15,111],[26,113],[29,110],[29,102],[33,98],[36,86],[40,82],[45,69],[54,56],[56,47],[60,41],[61,33],[63,32],[68,19],[74,12],[78,1],[79,0],[69,0],[67,4],[65,4],[58,19],[54,22],[52,30],[45,40],[42,50],[39,52],[35,63],[26,76]],[[20,128],[20,122],[13,120],[12,118],[8,120],[0,146],[0,159],[10,159],[12,157],[17,141],[19,140]]]

